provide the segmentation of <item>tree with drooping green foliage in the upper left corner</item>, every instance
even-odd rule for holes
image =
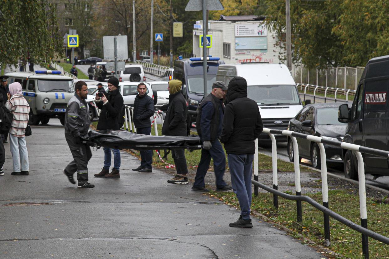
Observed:
[[[0,0],[0,63],[16,65],[28,54],[49,62],[62,50],[54,7],[47,0]]]

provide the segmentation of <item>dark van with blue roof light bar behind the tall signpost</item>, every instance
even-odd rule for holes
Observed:
[[[224,61],[221,61],[218,57],[209,57],[209,60],[207,60],[208,94],[212,90],[212,84],[216,81],[219,64],[224,64]],[[188,103],[191,122],[195,122],[197,105],[204,96],[203,58],[176,59],[174,61],[173,78],[182,82],[182,94]]]

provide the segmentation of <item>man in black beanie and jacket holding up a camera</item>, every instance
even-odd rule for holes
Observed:
[[[96,106],[101,110],[100,118],[97,123],[97,130],[119,130],[119,115],[123,109],[123,96],[120,94],[119,80],[116,77],[111,77],[108,80],[108,93],[103,94],[100,98],[98,92],[96,94]],[[100,173],[95,174],[95,177],[104,178],[120,178],[120,150],[112,148],[114,153],[114,167],[109,173],[111,166],[111,149],[103,148],[104,150],[104,167]]]

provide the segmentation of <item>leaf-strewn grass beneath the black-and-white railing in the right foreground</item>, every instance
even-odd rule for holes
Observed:
[[[359,218],[359,197],[357,195],[350,195],[347,191],[343,190],[329,191],[328,193],[329,209],[356,224],[361,224]],[[210,194],[229,205],[239,208],[235,193],[211,191]],[[305,193],[303,195],[310,196],[318,202],[322,200],[321,193]],[[271,193],[260,193],[258,197],[253,196],[251,205],[252,210],[268,217],[268,222],[276,223],[290,229],[292,231],[291,235],[294,238],[300,238],[299,235],[293,234],[298,233],[304,238],[312,240],[317,245],[325,245],[322,212],[305,202],[302,203],[302,207],[303,222],[299,224],[296,222],[296,202],[294,201],[279,198],[279,209],[276,210],[273,207],[273,195]],[[389,213],[389,205],[376,203],[371,199],[367,201],[367,211],[368,228],[381,235],[388,236],[389,223],[386,215]],[[332,218],[330,218],[330,231],[330,250],[347,258],[362,258],[361,234],[359,232],[348,228]],[[303,243],[314,245],[307,241]],[[389,258],[389,246],[369,238],[369,254],[370,258]],[[338,257],[329,254],[328,256],[330,258]]]

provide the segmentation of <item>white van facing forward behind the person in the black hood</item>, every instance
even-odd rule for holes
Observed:
[[[291,73],[284,64],[221,64],[216,80],[228,85],[234,76],[247,81],[247,97],[258,103],[263,127],[286,130],[289,120],[303,108]],[[285,141],[285,136],[276,136]],[[270,141],[268,134],[259,140]],[[278,142],[277,141],[277,142]]]

